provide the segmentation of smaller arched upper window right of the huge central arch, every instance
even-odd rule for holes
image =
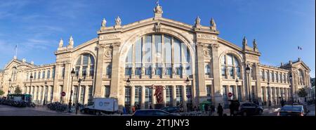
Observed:
[[[237,77],[238,79],[240,79],[240,64],[236,56],[225,54],[221,57],[220,64],[222,76],[227,76],[228,78]],[[226,75],[226,70],[228,70],[228,75]]]

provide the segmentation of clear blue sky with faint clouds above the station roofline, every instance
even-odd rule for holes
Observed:
[[[60,38],[72,35],[74,46],[97,37],[100,22],[114,25],[152,17],[154,0],[0,0],[0,67],[14,54],[37,65],[54,63]],[[242,46],[256,39],[261,63],[279,65],[301,57],[315,77],[315,0],[160,0],[163,17],[202,25],[214,18],[219,37]],[[297,46],[303,48],[298,51]]]

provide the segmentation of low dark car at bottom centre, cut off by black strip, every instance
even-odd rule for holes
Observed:
[[[177,116],[169,112],[159,109],[150,109],[150,110],[136,110],[133,113],[133,116]]]

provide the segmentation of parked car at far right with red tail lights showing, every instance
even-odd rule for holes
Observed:
[[[307,115],[303,105],[284,105],[277,116],[304,116]]]

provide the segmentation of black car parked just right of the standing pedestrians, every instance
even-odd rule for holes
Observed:
[[[242,103],[239,106],[239,115],[261,115],[263,108],[255,103]]]

